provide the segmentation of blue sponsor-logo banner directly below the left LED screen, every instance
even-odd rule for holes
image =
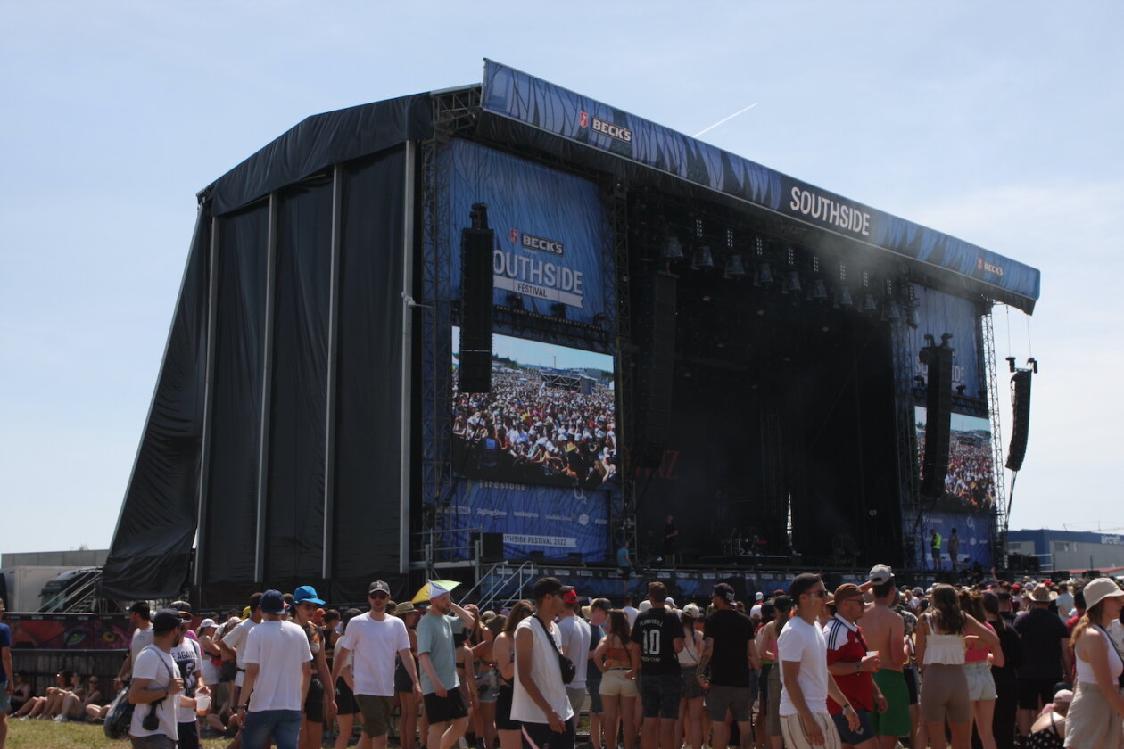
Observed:
[[[609,493],[462,478],[453,490],[450,527],[504,533],[504,556],[602,561],[609,556]],[[460,541],[468,541],[468,532]]]

